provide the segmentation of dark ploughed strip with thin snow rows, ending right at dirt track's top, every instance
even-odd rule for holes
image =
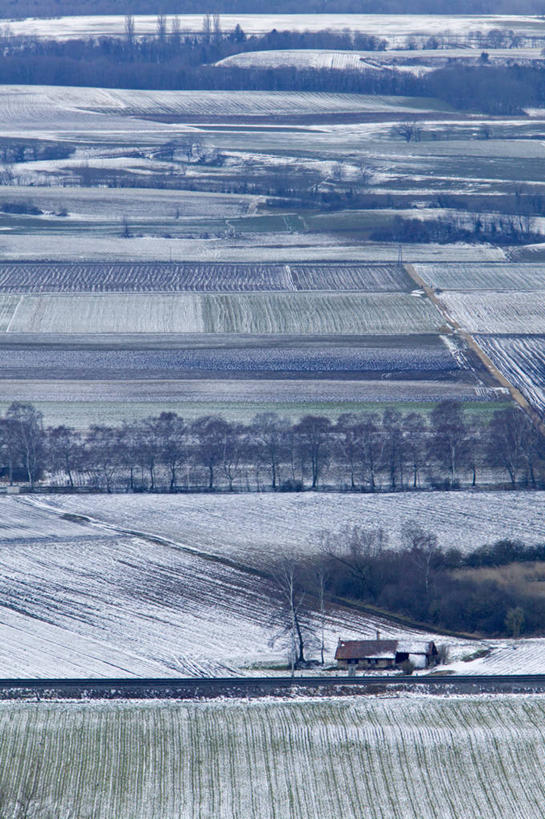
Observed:
[[[0,292],[410,290],[394,265],[220,263],[0,263]]]

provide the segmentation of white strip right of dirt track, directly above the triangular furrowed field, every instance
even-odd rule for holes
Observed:
[[[446,311],[470,333],[545,333],[545,290],[441,293]]]

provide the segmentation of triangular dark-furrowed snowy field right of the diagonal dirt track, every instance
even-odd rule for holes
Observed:
[[[545,336],[478,336],[476,341],[530,404],[545,412]]]

